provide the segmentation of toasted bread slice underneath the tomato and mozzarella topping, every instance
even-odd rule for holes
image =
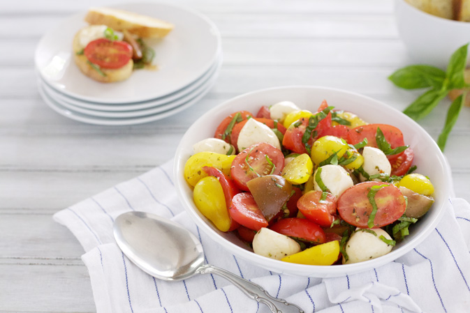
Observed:
[[[80,71],[82,71],[83,74],[87,75],[91,79],[96,80],[97,82],[121,82],[131,76],[134,66],[132,59],[130,59],[122,68],[101,68],[101,72],[91,66],[87,56],[83,54],[77,54],[83,49],[83,46],[80,44],[79,33],[80,31],[78,31],[78,33],[76,33],[75,37],[73,38],[73,61],[75,61],[75,64],[77,64],[78,68]]]

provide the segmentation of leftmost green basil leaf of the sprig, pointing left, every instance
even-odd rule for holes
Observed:
[[[444,79],[446,79],[446,72],[434,66],[406,66],[396,70],[388,79],[403,89],[428,87],[441,89]]]

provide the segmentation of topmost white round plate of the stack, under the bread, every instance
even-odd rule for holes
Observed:
[[[69,17],[47,32],[36,48],[41,77],[61,93],[101,103],[128,103],[174,93],[201,77],[215,63],[221,49],[216,26],[188,8],[163,3],[113,6],[166,20],[175,25],[166,38],[148,41],[155,49],[158,70],[135,70],[124,82],[103,84],[80,72],[71,56],[75,33],[87,26],[85,12]],[[53,70],[52,70],[53,69]]]

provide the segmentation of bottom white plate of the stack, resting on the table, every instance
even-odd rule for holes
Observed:
[[[89,123],[89,124],[94,124],[94,125],[136,125],[136,124],[143,124],[143,123],[149,123],[152,121],[158,121],[160,119],[165,119],[168,116],[172,116],[173,114],[177,114],[178,112],[182,112],[184,109],[187,109],[188,107],[191,107],[191,105],[196,104],[205,94],[210,91],[212,86],[214,85],[216,81],[216,76],[212,77],[210,79],[210,83],[207,85],[207,87],[198,95],[194,96],[194,98],[191,98],[191,100],[188,100],[182,105],[179,105],[179,107],[175,107],[173,109],[168,109],[165,112],[160,112],[148,116],[140,116],[140,117],[131,117],[131,118],[112,118],[112,117],[97,117],[97,116],[90,116],[88,114],[83,114],[80,112],[75,112],[72,109],[68,109],[61,105],[59,102],[51,98],[47,93],[45,93],[43,86],[41,85],[41,82],[38,81],[38,91],[39,94],[41,95],[41,98],[43,98],[44,102],[55,112],[68,117],[69,119],[73,119],[75,121],[80,121],[83,123]]]

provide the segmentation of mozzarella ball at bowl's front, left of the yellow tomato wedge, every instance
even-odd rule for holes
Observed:
[[[292,238],[265,227],[253,239],[253,251],[271,259],[280,260],[300,250],[300,245]]]

